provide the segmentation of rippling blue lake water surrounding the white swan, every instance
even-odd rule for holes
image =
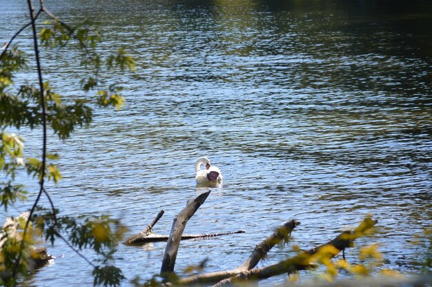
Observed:
[[[26,23],[25,2],[0,0],[1,43]],[[106,37],[102,48],[125,46],[137,61],[135,73],[102,76],[124,86],[124,108],[97,110],[94,123],[68,141],[49,139],[50,151],[62,156],[64,178],[47,188],[61,214],[109,214],[130,228],[127,237],[165,210],[154,230],[168,235],[186,201],[207,190],[194,179],[195,160],[206,155],[224,183],[211,189],[184,233],[245,233],[182,241],[179,275],[206,258],[206,272],[239,266],[289,219],[302,223],[291,244],[306,249],[367,215],[379,221],[379,233],[358,246],[380,244],[385,268],[418,270],[412,261],[424,250],[413,236],[432,225],[431,3],[47,0],[46,6],[66,22],[96,21]],[[21,46],[29,32],[18,39]],[[76,55],[58,52],[43,59],[45,79],[74,97],[82,75]],[[29,155],[40,152],[40,135],[23,131]],[[35,182],[20,180],[34,198]],[[9,213],[26,208],[30,202]],[[165,245],[119,246],[116,264],[128,279],[149,279],[159,273]],[[60,241],[48,248],[55,263],[24,285],[92,285],[84,260]],[[258,266],[293,254],[291,246],[277,246]],[[357,262],[355,250],[346,256]]]

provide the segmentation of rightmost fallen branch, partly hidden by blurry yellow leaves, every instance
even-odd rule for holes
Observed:
[[[339,253],[341,250],[344,250],[348,247],[353,247],[353,241],[358,237],[362,237],[365,232],[371,229],[376,223],[376,220],[372,220],[368,217],[364,219],[354,231],[344,231],[335,239],[328,241],[326,244],[322,244],[321,246],[312,248],[311,250],[304,251],[299,255],[279,261],[279,263],[273,264],[271,266],[240,272],[234,277],[219,281],[215,287],[226,286],[233,284],[233,282],[239,281],[266,279],[284,273],[291,274],[295,271],[312,268],[315,266],[315,264],[312,262],[313,255],[320,253],[321,251],[328,253],[326,248],[333,247],[335,252],[328,253],[327,255],[329,258],[335,257],[335,255],[337,255],[337,253]]]

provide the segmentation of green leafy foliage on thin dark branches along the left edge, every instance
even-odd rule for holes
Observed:
[[[124,227],[119,221],[106,215],[79,219],[58,217],[59,210],[55,208],[44,187],[45,179],[54,181],[55,184],[61,180],[59,166],[53,162],[59,159],[59,155],[47,152],[46,132],[43,132],[43,155],[37,158],[26,157],[23,138],[14,132],[8,132],[7,129],[20,130],[27,127],[33,130],[42,127],[43,130],[52,130],[61,140],[68,139],[76,128],[91,123],[95,106],[114,106],[119,109],[124,105],[121,87],[110,85],[104,89],[104,81],[99,79],[98,75],[102,69],[134,70],[135,61],[127,54],[125,48],[106,57],[96,52],[97,44],[103,38],[90,21],[69,26],[52,15],[43,1],[40,1],[39,12],[35,14],[30,10],[30,20],[36,21],[41,15],[48,16],[50,20],[41,23],[42,28],[38,34],[33,30],[35,54],[39,55],[38,43],[41,43],[48,52],[56,52],[59,48],[76,50],[81,56],[78,61],[82,68],[92,70],[91,76],[81,80],[81,88],[83,92],[97,88],[97,92],[95,97],[83,94],[65,99],[52,90],[49,81],[42,82],[41,70],[37,71],[38,83],[14,86],[14,75],[23,68],[28,68],[27,57],[32,55],[25,55],[17,45],[10,42],[30,24],[19,30],[0,51],[0,170],[3,173],[2,178],[6,179],[0,182],[1,208],[7,211],[17,200],[26,199],[28,192],[24,190],[24,186],[14,183],[15,177],[23,174],[18,173],[19,170],[26,171],[28,175],[37,179],[40,185],[29,218],[19,223],[17,230],[21,231],[11,232],[8,226],[0,229],[0,284],[14,286],[17,283],[17,275],[26,275],[31,270],[30,250],[34,244],[33,236],[39,234],[51,244],[54,244],[56,239],[65,240],[77,253],[91,248],[101,256],[101,259],[98,259],[100,266],[86,259],[94,267],[95,285],[118,286],[124,276],[121,270],[112,265],[112,261],[115,246],[125,231]],[[42,195],[48,197],[50,208],[37,206]]]

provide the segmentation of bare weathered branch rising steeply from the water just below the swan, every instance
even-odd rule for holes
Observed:
[[[198,210],[199,206],[204,204],[210,191],[204,192],[195,199],[189,199],[186,207],[181,210],[179,215],[173,220],[173,227],[171,228],[170,237],[165,248],[164,261],[162,261],[161,275],[165,273],[173,273],[175,266],[175,259],[177,258],[177,251],[179,250],[179,244],[181,235],[186,227],[186,223]]]

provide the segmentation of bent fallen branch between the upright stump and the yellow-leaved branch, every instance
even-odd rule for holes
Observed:
[[[248,259],[246,259],[246,261],[244,261],[242,265],[240,265],[239,267],[233,270],[218,271],[218,272],[206,273],[202,275],[195,275],[184,279],[180,279],[178,282],[176,282],[176,284],[190,285],[190,284],[204,284],[204,283],[211,283],[211,282],[214,283],[222,279],[233,277],[243,271],[251,270],[258,264],[259,260],[266,257],[266,254],[268,253],[269,250],[271,250],[271,248],[273,248],[273,246],[279,244],[283,240],[288,241],[291,232],[299,224],[300,222],[298,222],[295,219],[287,221],[283,226],[277,228],[277,230],[273,233],[273,235],[264,239],[264,241],[262,241],[260,244],[257,244],[251,256]]]

